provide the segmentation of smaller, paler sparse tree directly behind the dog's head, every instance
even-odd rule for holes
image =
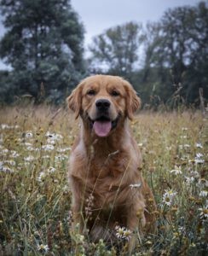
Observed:
[[[142,25],[134,22],[115,26],[97,36],[90,47],[92,67],[104,73],[131,78],[138,48],[142,43]]]

